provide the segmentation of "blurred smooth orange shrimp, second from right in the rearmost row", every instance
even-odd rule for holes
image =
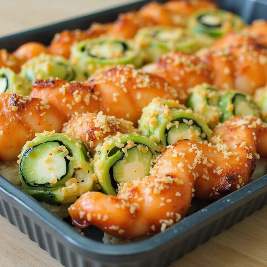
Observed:
[[[186,20],[157,2],[147,3],[139,10],[142,17],[152,19],[156,25],[185,26]]]

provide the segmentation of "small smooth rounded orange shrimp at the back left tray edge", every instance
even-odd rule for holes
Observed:
[[[47,49],[43,44],[38,42],[29,42],[19,46],[13,55],[24,63],[33,57],[39,56],[41,53],[47,53]]]

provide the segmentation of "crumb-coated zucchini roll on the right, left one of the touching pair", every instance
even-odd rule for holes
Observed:
[[[187,107],[193,109],[205,117],[207,124],[213,129],[220,121],[219,91],[209,84],[196,85],[192,88],[191,95],[187,101]]]

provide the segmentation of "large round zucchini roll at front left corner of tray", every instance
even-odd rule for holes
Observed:
[[[36,134],[19,155],[19,175],[26,193],[51,204],[72,203],[94,189],[83,142],[67,134]]]

